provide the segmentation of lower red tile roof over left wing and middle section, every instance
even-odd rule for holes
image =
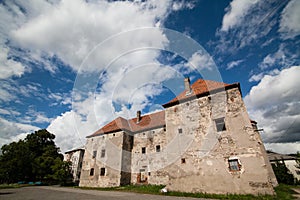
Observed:
[[[87,136],[94,137],[97,135],[114,133],[118,131],[129,131],[129,132],[140,132],[146,131],[153,128],[163,127],[165,125],[165,111],[159,111],[156,113],[151,113],[149,115],[141,116],[139,122],[137,118],[132,118],[126,120],[122,117],[118,117],[110,123],[103,126],[98,131],[94,132],[92,135]]]

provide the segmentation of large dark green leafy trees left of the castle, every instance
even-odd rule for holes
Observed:
[[[70,175],[70,165],[63,161],[54,139],[55,135],[42,129],[24,140],[2,146],[0,183],[64,182],[63,178]]]

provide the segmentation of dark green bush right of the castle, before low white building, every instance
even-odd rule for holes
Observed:
[[[284,161],[276,161],[275,164],[272,164],[273,171],[275,173],[278,183],[294,185],[295,178],[290,170],[286,167]]]

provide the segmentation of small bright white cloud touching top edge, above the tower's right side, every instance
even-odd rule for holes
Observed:
[[[226,8],[223,17],[222,31],[229,31],[231,28],[240,25],[249,10],[258,3],[258,0],[233,0]]]

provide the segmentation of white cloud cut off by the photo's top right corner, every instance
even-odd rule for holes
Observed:
[[[300,34],[300,1],[291,0],[281,14],[279,32],[282,37],[294,38]]]

